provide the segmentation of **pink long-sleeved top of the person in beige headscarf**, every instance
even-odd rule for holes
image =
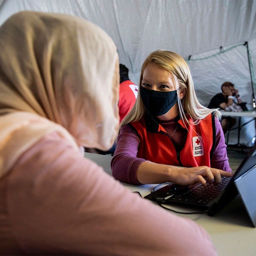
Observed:
[[[0,180],[0,254],[216,255],[192,220],[161,209],[44,136]]]

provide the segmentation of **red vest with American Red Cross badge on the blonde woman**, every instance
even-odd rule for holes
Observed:
[[[181,119],[178,123],[186,129]],[[187,124],[187,139],[180,152],[176,152],[171,139],[160,124],[152,128],[145,119],[130,124],[140,138],[137,157],[158,164],[185,167],[211,166],[216,136],[213,115],[208,115],[197,125]]]

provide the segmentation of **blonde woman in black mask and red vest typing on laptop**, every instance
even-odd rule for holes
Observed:
[[[186,61],[152,52],[141,68],[137,101],[120,124],[113,176],[133,184],[220,183],[232,173],[218,118],[218,110],[197,100]]]

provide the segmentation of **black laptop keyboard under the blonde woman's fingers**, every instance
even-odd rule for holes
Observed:
[[[188,204],[202,204],[206,205],[220,195],[220,193],[227,186],[230,177],[222,177],[222,181],[218,185],[207,183],[207,187],[198,185],[195,188],[171,188],[165,193],[157,195],[157,197],[164,197],[167,201],[184,202]]]

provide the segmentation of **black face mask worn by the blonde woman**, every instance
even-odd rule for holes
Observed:
[[[152,116],[162,116],[178,101],[177,90],[159,92],[140,87],[140,97],[147,112]]]

